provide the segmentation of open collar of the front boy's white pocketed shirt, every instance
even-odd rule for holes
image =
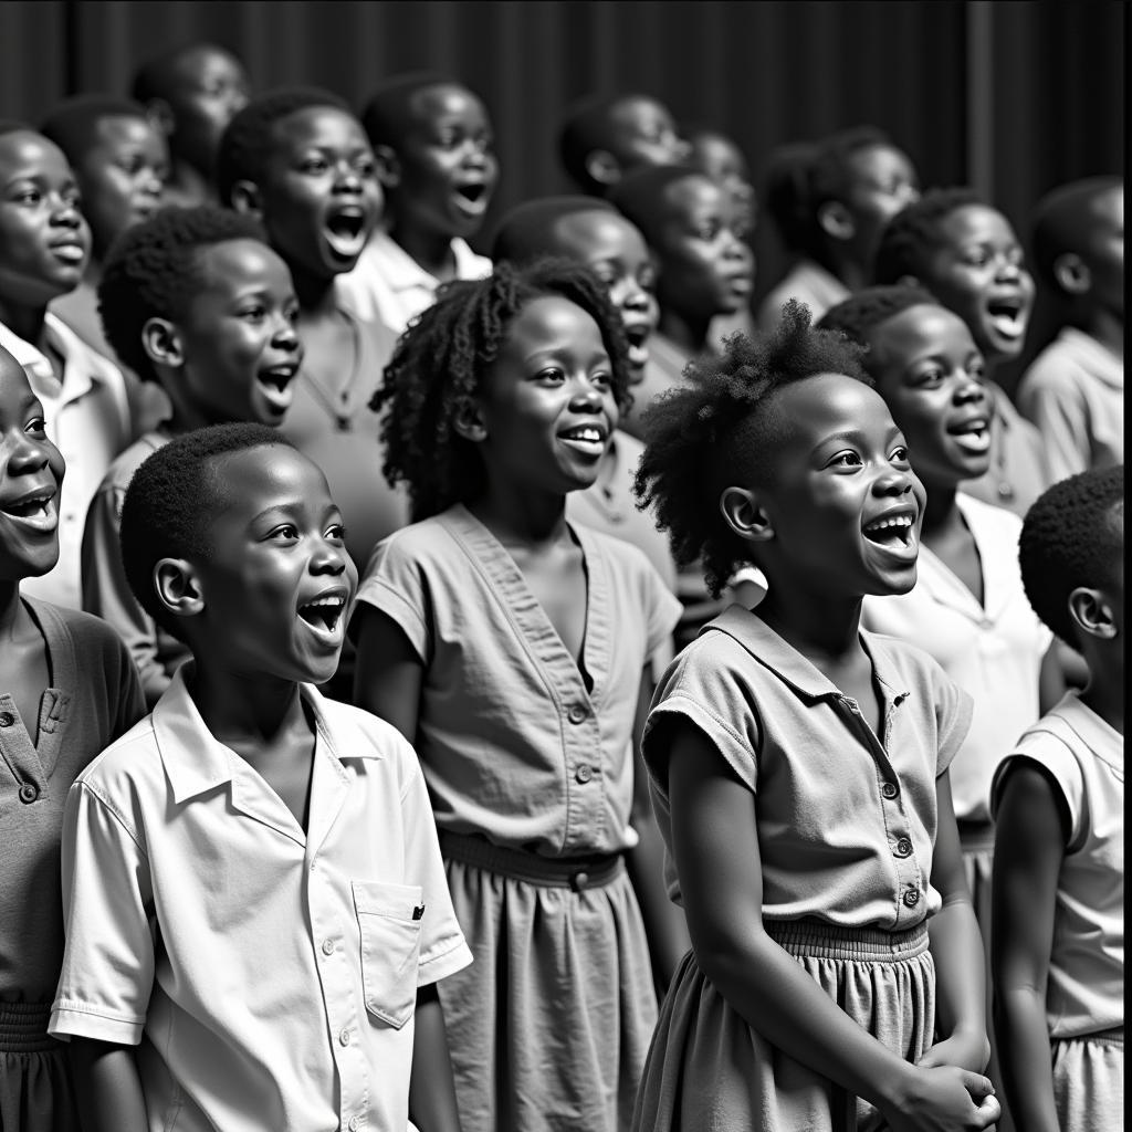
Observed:
[[[247,765],[231,748],[208,730],[186,687],[185,674],[195,661],[182,664],[153,710],[153,730],[165,774],[180,805],[189,798],[231,782],[237,770]],[[349,719],[327,719],[328,704],[314,685],[299,685],[303,702],[311,709],[318,732],[315,754],[323,752],[341,763],[346,758],[384,757],[372,739],[362,735]]]

